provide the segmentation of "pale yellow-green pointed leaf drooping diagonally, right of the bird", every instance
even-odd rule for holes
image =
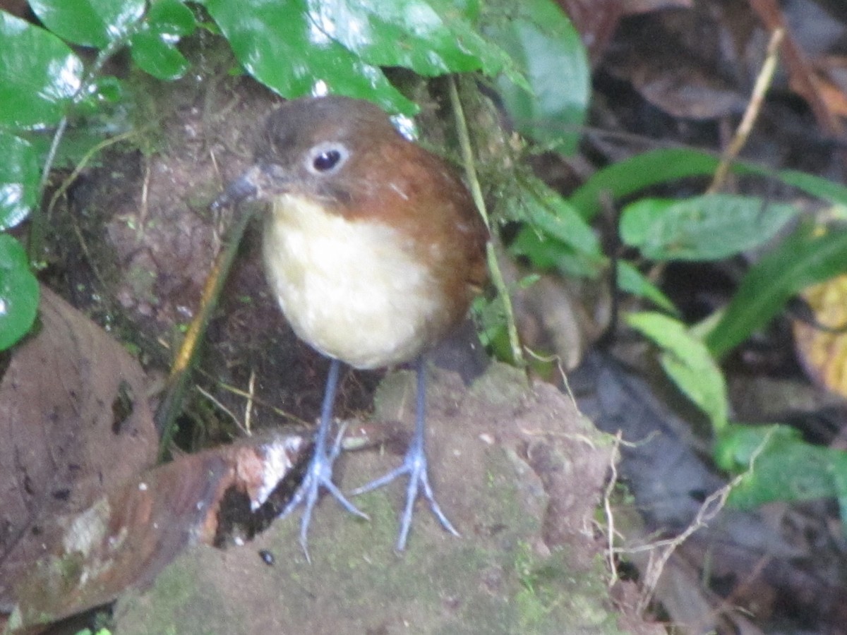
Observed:
[[[662,349],[660,361],[668,377],[706,413],[712,426],[726,428],[727,386],[706,345],[689,334],[684,323],[662,313],[631,313],[627,323]]]

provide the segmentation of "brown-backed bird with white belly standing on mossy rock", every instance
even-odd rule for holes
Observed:
[[[368,518],[333,483],[340,436],[330,443],[340,365],[357,369],[412,363],[415,428],[399,467],[351,495],[408,477],[396,549],[406,548],[418,497],[447,532],[429,481],[425,443],[426,359],[457,329],[488,279],[490,238],[450,163],[409,141],[372,102],[302,97],[268,115],[255,162],[213,207],[257,200],[264,215],[268,285],[294,333],[329,358],[313,455],[280,513],[302,505],[300,544],[318,494]]]

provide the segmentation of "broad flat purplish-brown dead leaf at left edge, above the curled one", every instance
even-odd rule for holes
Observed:
[[[40,325],[0,383],[0,610],[104,486],[156,461],[147,381],[117,342],[42,289]]]

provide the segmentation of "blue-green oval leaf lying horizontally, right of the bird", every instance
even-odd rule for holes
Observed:
[[[771,240],[797,209],[755,196],[644,198],[623,209],[621,238],[652,260],[720,260]]]

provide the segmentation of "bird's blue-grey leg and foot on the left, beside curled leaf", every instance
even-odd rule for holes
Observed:
[[[285,505],[285,509],[280,513],[280,518],[285,518],[285,516],[291,514],[301,503],[303,504],[303,516],[300,521],[300,546],[306,555],[306,560],[309,560],[306,539],[309,522],[312,521],[312,510],[318,502],[318,490],[321,487],[327,489],[329,494],[332,494],[335,500],[346,511],[368,520],[368,515],[363,513],[363,511],[359,511],[357,506],[347,500],[344,494],[341,494],[340,489],[332,482],[332,464],[341,451],[341,435],[344,433],[344,429],[342,428],[332,448],[328,450],[327,435],[329,434],[329,425],[332,421],[332,411],[335,405],[335,389],[338,388],[339,368],[340,362],[337,359],[333,359],[329,364],[329,376],[326,379],[324,403],[321,406],[320,412],[320,424],[318,425],[318,433],[315,434],[314,453],[309,460],[306,475],[303,477],[300,487],[297,488],[288,505]]]

